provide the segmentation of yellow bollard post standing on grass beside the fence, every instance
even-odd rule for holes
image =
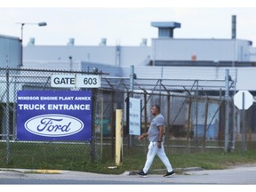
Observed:
[[[123,159],[123,109],[116,109],[116,165]]]

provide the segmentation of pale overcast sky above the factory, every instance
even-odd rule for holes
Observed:
[[[157,2],[163,4],[163,1]],[[180,22],[181,28],[174,29],[174,38],[231,38],[231,18],[236,15],[236,38],[251,40],[256,46],[256,6],[253,5],[205,8],[204,4],[203,7],[200,4],[189,7],[187,4],[188,8],[182,8],[180,5],[175,7],[169,4],[166,8],[161,8],[163,5],[157,7],[157,4],[148,4],[145,7],[143,4],[121,6],[113,1],[108,1],[112,5],[89,6],[61,6],[60,2],[63,1],[55,5],[44,4],[42,7],[33,4],[12,7],[12,4],[5,3],[6,6],[0,8],[0,35],[20,37],[19,22],[44,21],[47,23],[46,27],[25,24],[24,44],[28,44],[29,38],[34,37],[38,45],[66,45],[69,38],[74,38],[76,45],[98,45],[101,38],[107,38],[108,45],[135,46],[141,43],[142,38],[146,38],[150,45],[151,38],[157,37],[157,28],[151,27],[151,21]]]

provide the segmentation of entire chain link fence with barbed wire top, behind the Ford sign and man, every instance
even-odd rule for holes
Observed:
[[[115,157],[116,109],[124,110],[124,152],[145,151],[145,143],[129,134],[129,100],[140,99],[140,132],[147,132],[150,108],[160,105],[169,148],[229,148],[234,144],[234,81],[115,78],[101,74],[99,89],[51,87],[52,75],[89,72],[0,68],[0,164],[40,168],[74,167]],[[99,74],[98,74],[99,75]],[[228,102],[227,102],[228,84]],[[132,89],[131,89],[132,87]],[[92,140],[17,140],[17,92],[91,91]],[[228,106],[228,118],[227,114]],[[226,130],[225,130],[226,129]],[[79,168],[78,168],[79,167]]]

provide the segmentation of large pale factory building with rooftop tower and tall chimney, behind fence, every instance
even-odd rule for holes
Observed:
[[[137,46],[100,44],[77,46],[75,39],[67,45],[36,45],[31,38],[23,48],[22,68],[47,68],[92,71],[98,68],[109,76],[130,76],[130,68],[138,78],[224,79],[225,70],[236,79],[237,90],[256,91],[250,84],[256,72],[256,48],[252,41],[236,38],[236,15],[232,15],[231,36],[227,39],[175,38],[178,22],[151,22],[158,37],[148,46],[142,39]]]

